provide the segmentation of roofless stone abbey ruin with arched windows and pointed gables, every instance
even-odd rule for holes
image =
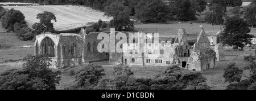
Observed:
[[[123,52],[99,52],[102,39],[93,32],[74,33],[42,33],[36,36],[35,54],[49,54],[52,58],[51,68],[64,68],[108,60],[115,65],[151,65],[168,66],[177,64],[183,69],[204,71],[214,68],[216,61],[224,60],[223,47],[219,42],[218,31],[201,30],[197,34],[187,34],[179,29],[177,34],[159,34],[159,42],[144,43],[142,38],[134,37],[133,43],[123,43]],[[110,36],[110,32],[104,32]],[[119,32],[115,32],[117,34]],[[122,32],[129,36],[129,32]],[[139,33],[139,32],[138,32]],[[129,38],[129,37],[127,37]],[[136,38],[136,39],[135,39]],[[146,37],[154,40],[154,37]],[[136,40],[136,41],[135,41]],[[109,41],[117,44],[120,39],[109,37]],[[129,49],[128,47],[134,47]],[[158,47],[158,49],[152,50]],[[111,47],[109,50],[113,50]]]

